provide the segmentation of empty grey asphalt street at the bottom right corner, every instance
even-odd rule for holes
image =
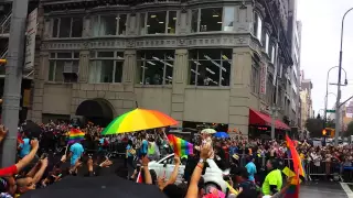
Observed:
[[[340,183],[312,183],[300,186],[300,197],[308,198],[347,198]]]

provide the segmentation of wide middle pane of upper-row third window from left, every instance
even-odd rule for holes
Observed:
[[[165,18],[164,12],[149,12],[147,19],[147,33],[148,34],[164,34],[165,33]]]

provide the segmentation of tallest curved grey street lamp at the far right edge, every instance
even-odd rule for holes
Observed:
[[[344,19],[349,12],[351,12],[353,8],[349,9],[342,18],[342,26],[341,26],[341,46],[340,46],[340,61],[339,61],[339,80],[338,80],[338,100],[335,102],[335,134],[334,134],[334,145],[339,145],[339,134],[340,134],[340,101],[341,101],[341,77],[342,77],[342,48],[343,48],[343,30],[344,30]]]

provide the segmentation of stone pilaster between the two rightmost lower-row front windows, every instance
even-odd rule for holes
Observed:
[[[179,121],[179,127],[182,127],[184,117],[184,92],[188,79],[188,50],[175,50],[171,117]]]

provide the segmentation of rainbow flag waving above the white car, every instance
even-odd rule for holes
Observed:
[[[173,147],[175,155],[182,157],[184,155],[193,154],[194,146],[192,143],[190,143],[183,139],[180,139],[175,135],[172,135],[172,134],[168,135],[168,140],[169,140],[169,143],[171,144],[171,146]]]

